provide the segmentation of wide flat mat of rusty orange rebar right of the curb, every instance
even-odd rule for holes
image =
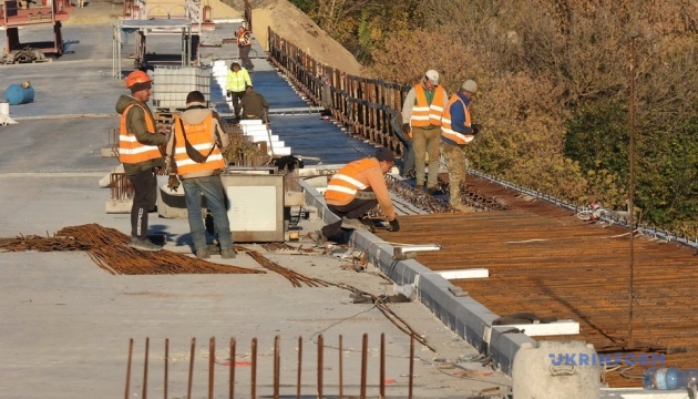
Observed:
[[[497,315],[533,311],[581,325],[578,336],[534,339],[582,339],[599,351],[628,349],[629,231],[583,221],[572,211],[495,185],[478,190],[511,211],[401,216],[400,232],[377,235],[393,243],[440,245],[439,252],[417,256],[433,270],[487,268],[486,279],[451,283]],[[634,241],[633,339],[638,350],[633,352],[664,348],[667,366],[696,367],[695,355],[687,352],[698,347],[696,250],[643,235]],[[633,375],[641,370],[636,366]],[[619,371],[605,378],[612,387],[641,386]]]

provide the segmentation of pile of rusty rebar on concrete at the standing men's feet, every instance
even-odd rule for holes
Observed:
[[[259,274],[237,266],[219,265],[184,254],[162,249],[144,252],[129,247],[131,237],[97,224],[64,227],[53,237],[18,236],[0,238],[0,249],[85,250],[90,258],[113,275],[153,274]]]

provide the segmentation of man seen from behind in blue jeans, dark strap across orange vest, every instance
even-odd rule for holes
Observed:
[[[206,106],[206,99],[202,92],[193,91],[186,96],[184,112],[175,115],[173,126],[174,134],[167,142],[166,157],[171,170],[176,167],[176,174],[184,186],[196,257],[202,259],[211,257],[202,214],[204,195],[214,218],[220,257],[234,258],[233,233],[220,182],[220,172],[226,167],[222,151],[228,146],[228,136],[220,127],[218,114]],[[171,190],[176,187],[176,183],[170,186]]]

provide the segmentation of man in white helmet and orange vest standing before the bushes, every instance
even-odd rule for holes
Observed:
[[[402,133],[411,131],[414,147],[417,187],[424,185],[424,164],[429,155],[427,192],[437,194],[439,188],[439,144],[441,142],[441,115],[449,102],[445,90],[439,85],[439,72],[429,70],[424,78],[408,92],[402,105]]]

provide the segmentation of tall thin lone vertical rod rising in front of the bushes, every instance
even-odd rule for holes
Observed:
[[[635,221],[634,221],[634,196],[635,196],[635,39],[637,38],[634,34],[630,38],[630,110],[629,110],[629,135],[630,135],[630,147],[628,154],[628,162],[630,168],[630,176],[628,182],[628,224],[630,226],[630,259],[629,259],[629,270],[630,270],[630,280],[628,282],[628,299],[630,301],[628,307],[628,349],[633,349],[635,347],[634,338],[633,338],[633,319],[634,319],[634,307],[633,307],[633,297],[635,296],[635,287],[634,287],[634,232],[635,232]]]

